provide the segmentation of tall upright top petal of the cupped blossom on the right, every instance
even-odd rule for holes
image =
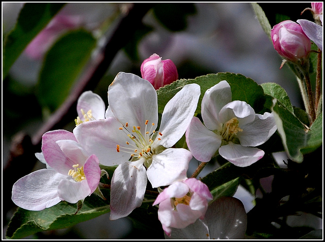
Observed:
[[[232,91],[226,81],[221,81],[208,89],[202,99],[202,119],[210,130],[219,128],[219,112],[232,101]]]

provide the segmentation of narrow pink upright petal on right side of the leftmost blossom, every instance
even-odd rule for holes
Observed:
[[[100,162],[98,161],[98,158],[95,155],[91,155],[86,160],[86,163],[83,167],[90,193],[93,193],[94,190],[96,190],[101,180],[101,168],[99,164]]]

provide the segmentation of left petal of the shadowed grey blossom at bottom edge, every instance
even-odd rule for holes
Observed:
[[[165,239],[209,239],[209,229],[204,220],[198,219],[195,223],[182,229],[171,228],[171,236],[165,234]]]

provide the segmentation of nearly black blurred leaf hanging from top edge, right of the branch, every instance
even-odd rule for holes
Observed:
[[[171,31],[187,27],[187,15],[197,12],[193,3],[158,3],[153,8],[155,17]]]

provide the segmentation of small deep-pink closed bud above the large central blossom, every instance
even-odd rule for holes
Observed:
[[[157,54],[151,55],[141,64],[141,76],[149,81],[155,89],[159,89],[178,79],[176,65],[170,59],[161,60]]]

